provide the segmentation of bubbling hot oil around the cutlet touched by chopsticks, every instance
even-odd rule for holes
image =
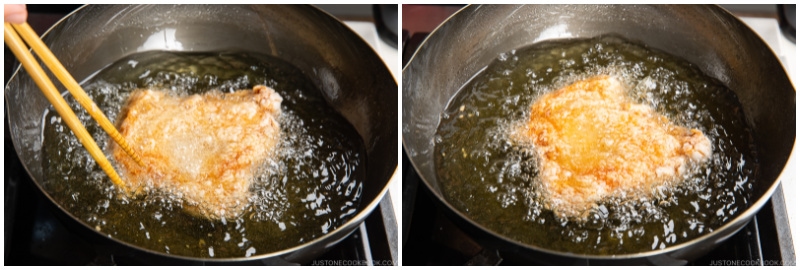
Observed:
[[[353,127],[297,68],[250,53],[146,52],[104,68],[83,87],[113,120],[137,88],[184,96],[258,84],[283,97],[282,138],[277,154],[257,169],[249,208],[234,220],[188,214],[169,192],[120,196],[52,110],[44,115],[43,185],[56,202],[100,233],[169,254],[249,257],[333,231],[357,212],[365,151]],[[114,142],[71,96],[66,99],[111,157],[109,144]]]

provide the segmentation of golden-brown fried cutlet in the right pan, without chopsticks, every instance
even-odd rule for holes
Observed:
[[[540,194],[560,216],[577,217],[615,194],[650,196],[703,162],[703,133],[672,124],[625,96],[615,78],[596,76],[548,93],[522,127],[541,160]]]

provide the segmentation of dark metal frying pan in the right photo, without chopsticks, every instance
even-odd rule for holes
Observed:
[[[471,220],[442,195],[434,134],[456,92],[501,53],[543,40],[617,34],[697,65],[733,90],[753,130],[759,169],[749,208],[714,232],[665,249],[583,255],[523,244]],[[434,30],[403,69],[403,146],[422,182],[473,238],[506,254],[558,264],[685,264],[735,234],[769,200],[795,141],[795,92],[769,47],[718,6],[467,6]]]

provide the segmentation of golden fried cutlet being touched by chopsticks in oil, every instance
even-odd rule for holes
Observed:
[[[187,209],[201,216],[240,215],[255,168],[277,146],[281,101],[263,85],[187,97],[135,91],[119,130],[146,166],[112,148],[128,195],[158,190],[181,196]]]

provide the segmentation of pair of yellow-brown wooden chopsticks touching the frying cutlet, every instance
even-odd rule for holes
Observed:
[[[50,101],[50,104],[53,104],[53,107],[56,109],[61,118],[64,119],[64,122],[67,126],[72,130],[78,140],[83,144],[83,147],[89,151],[89,154],[97,161],[98,166],[105,171],[111,181],[120,187],[123,191],[125,190],[125,185],[122,179],[120,179],[117,172],[114,170],[114,167],[111,166],[111,163],[106,159],[106,156],[103,154],[103,151],[100,150],[100,147],[97,146],[97,142],[94,141],[89,132],[86,131],[86,128],[81,124],[78,117],[75,115],[75,112],[70,109],[67,102],[64,100],[64,97],[56,89],[53,82],[50,81],[47,74],[44,73],[44,70],[39,63],[36,62],[36,59],[33,58],[33,54],[28,50],[23,43],[22,39],[31,46],[34,52],[39,55],[39,58],[45,63],[45,65],[50,69],[53,74],[56,75],[59,81],[69,90],[73,97],[78,101],[78,103],[89,112],[89,115],[94,118],[100,124],[100,127],[108,133],[117,144],[125,150],[128,155],[133,158],[140,166],[144,166],[142,160],[139,159],[139,156],[133,152],[131,147],[125,141],[119,131],[111,124],[111,121],[106,118],[100,108],[92,101],[92,99],[83,91],[83,88],[75,81],[74,78],[67,72],[67,69],[64,68],[63,65],[56,59],[53,52],[47,48],[47,46],[39,39],[39,36],[33,29],[28,25],[28,23],[23,24],[12,24],[12,23],[5,23],[4,27],[4,40],[6,45],[11,49],[14,55],[19,59],[22,66],[25,67],[25,70],[30,73],[31,78],[33,81],[36,82],[36,85],[39,86],[39,89],[42,90],[47,100]],[[20,39],[22,36],[22,39]]]

